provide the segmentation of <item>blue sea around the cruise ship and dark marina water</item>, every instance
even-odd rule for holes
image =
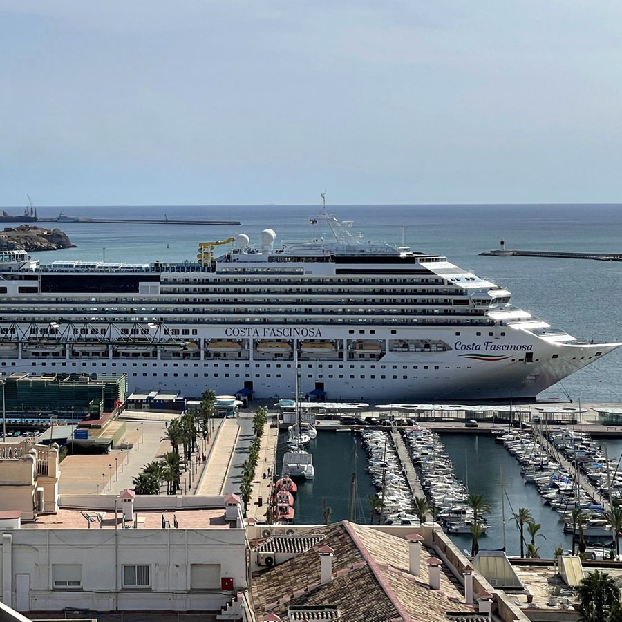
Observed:
[[[12,211],[8,209],[7,211]],[[76,249],[41,253],[43,263],[76,258],[85,261],[147,263],[194,261],[198,243],[245,233],[258,244],[259,233],[274,229],[276,243],[324,236],[310,217],[317,206],[223,207],[71,207],[39,208],[39,216],[59,211],[90,218],[152,218],[164,220],[239,220],[239,226],[135,225],[58,223]],[[482,257],[501,239],[508,249],[561,252],[622,252],[621,205],[340,205],[328,211],[351,220],[349,229],[362,243],[386,241],[415,251],[446,255],[449,261],[509,289],[514,304],[576,337],[594,341],[622,339],[622,263],[578,259]],[[18,212],[15,212],[18,213]],[[576,403],[621,402],[622,348],[550,388],[540,397],[571,398]],[[518,463],[484,435],[445,435],[446,449],[458,476],[491,505],[493,528],[482,547],[504,543],[502,499],[505,498],[505,541],[518,553],[518,530],[511,513],[529,507],[543,525],[540,552],[569,546],[557,515],[544,506],[534,487],[520,478]],[[610,457],[619,458],[622,442],[608,442]],[[330,520],[348,517],[351,473],[357,468],[357,514],[368,522],[368,496],[373,493],[365,471],[365,454],[348,434],[320,434],[314,448],[317,478],[301,487],[296,522],[323,522],[322,498]],[[357,453],[357,460],[353,458]],[[502,484],[505,493],[502,494]],[[456,536],[469,547],[468,536]]]

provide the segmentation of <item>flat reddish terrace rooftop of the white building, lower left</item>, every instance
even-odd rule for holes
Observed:
[[[83,510],[61,508],[56,514],[37,516],[36,522],[22,523],[21,529],[84,529],[88,527],[86,516],[91,517],[91,529],[100,529],[98,513],[103,515],[101,529],[120,529],[123,513],[119,510],[115,517],[114,511]],[[86,516],[85,516],[86,515]],[[137,511],[138,524],[144,529],[162,529],[162,517],[170,523],[177,520],[178,529],[209,529],[211,527],[235,527],[234,520],[225,520],[225,507],[210,509],[182,509],[182,510],[146,510]]]

